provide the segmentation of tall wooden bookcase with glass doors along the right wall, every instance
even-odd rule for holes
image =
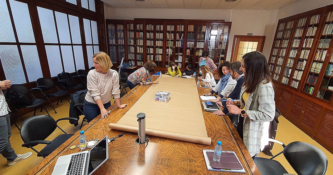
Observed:
[[[280,19],[268,64],[276,108],[333,152],[333,5]]]

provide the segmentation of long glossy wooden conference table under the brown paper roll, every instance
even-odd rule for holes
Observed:
[[[153,76],[153,81],[158,77]],[[146,92],[150,85],[136,86],[121,98],[121,103],[128,104],[125,109],[118,109],[113,104],[111,115],[107,119],[96,117],[88,125],[83,127],[87,139],[103,138],[106,134],[115,137],[124,131],[111,130],[109,123],[117,123],[119,119],[131,108],[132,105]],[[198,95],[208,93],[207,88],[198,88]],[[201,99],[200,99],[200,102]],[[206,125],[208,137],[211,137],[211,145],[204,145],[157,136],[149,136],[149,143],[139,145],[135,143],[137,133],[127,133],[115,141],[109,143],[109,159],[93,174],[131,174],[131,175],[183,175],[183,174],[219,174],[219,175],[259,175],[250,154],[240,139],[227,116],[215,116],[205,112],[202,105],[202,113]],[[58,149],[52,152],[36,167],[28,172],[28,175],[51,174],[57,158],[62,155],[79,152],[80,148],[70,149],[71,145],[79,143],[80,133],[75,133]],[[232,173],[221,171],[208,171],[203,157],[202,149],[214,149],[217,141],[222,141],[222,149],[235,151],[246,173]]]

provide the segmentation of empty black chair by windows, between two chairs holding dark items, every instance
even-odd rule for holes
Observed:
[[[68,103],[70,103],[68,98],[66,97],[67,91],[60,90],[59,87],[57,85],[55,85],[54,82],[51,79],[49,79],[49,78],[38,78],[36,80],[36,85],[37,85],[36,88],[41,89],[42,93],[45,95],[47,101],[50,103],[51,107],[53,108],[53,110],[56,114],[57,114],[57,111],[54,109],[52,103],[49,100],[49,97],[58,97],[57,105],[59,105],[60,97],[65,97],[66,100],[68,101]],[[47,91],[47,90],[52,89],[54,86],[58,89],[56,92],[52,92],[52,93],[44,93],[43,92],[43,91]],[[62,98],[61,98],[61,102],[62,102]]]

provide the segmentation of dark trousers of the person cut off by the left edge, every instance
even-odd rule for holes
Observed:
[[[13,161],[17,155],[9,141],[9,137],[12,135],[10,128],[9,115],[0,116],[0,153],[8,161]]]

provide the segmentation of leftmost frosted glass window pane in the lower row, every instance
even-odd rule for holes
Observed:
[[[12,84],[26,83],[17,45],[0,45],[0,59],[7,80]]]

